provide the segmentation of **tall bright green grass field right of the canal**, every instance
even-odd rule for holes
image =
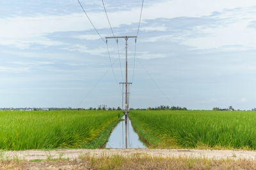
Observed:
[[[256,149],[254,111],[131,111],[129,118],[153,147]]]

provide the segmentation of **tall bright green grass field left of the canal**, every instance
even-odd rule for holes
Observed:
[[[0,149],[77,148],[97,138],[118,111],[0,111]]]

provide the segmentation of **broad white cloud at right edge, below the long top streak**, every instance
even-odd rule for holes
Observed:
[[[182,45],[192,46],[193,49],[218,49],[225,51],[248,50],[256,48],[256,32],[248,27],[255,20],[255,8],[246,8],[223,12],[214,17],[220,20],[216,27],[205,25],[195,27],[192,31],[198,32],[199,36],[187,38]]]

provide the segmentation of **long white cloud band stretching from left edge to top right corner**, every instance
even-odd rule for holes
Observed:
[[[166,0],[145,7],[143,9],[143,20],[202,17],[226,8],[243,8],[253,5],[255,5],[254,0]],[[88,15],[98,29],[109,27],[103,11],[97,13],[90,12]],[[137,6],[127,11],[110,11],[108,15],[113,27],[119,27],[122,24],[137,23],[140,15],[140,7]],[[61,16],[1,17],[0,22],[0,38],[19,39],[43,36],[44,34],[58,31],[84,31],[92,29],[92,25],[90,25],[82,12]]]

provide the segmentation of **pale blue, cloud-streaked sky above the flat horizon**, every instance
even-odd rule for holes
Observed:
[[[112,36],[102,1],[80,1]],[[136,36],[142,1],[104,3],[115,36]],[[256,108],[255,18],[253,0],[145,0],[135,62],[128,41],[130,107]],[[2,0],[0,108],[122,106],[125,41],[108,48],[77,0]]]

